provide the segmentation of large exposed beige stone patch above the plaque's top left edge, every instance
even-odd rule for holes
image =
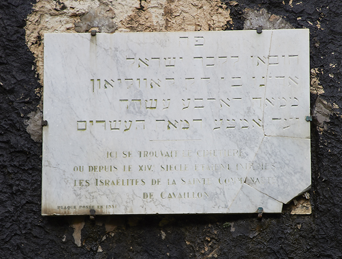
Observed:
[[[229,10],[218,0],[40,0],[26,21],[26,43],[43,84],[46,32],[223,30]]]

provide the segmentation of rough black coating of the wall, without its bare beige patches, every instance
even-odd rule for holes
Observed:
[[[226,4],[234,29],[243,28],[246,8],[264,8],[295,28],[310,29],[310,67],[321,71],[324,89],[319,96],[311,94],[313,213],[291,215],[287,205],[282,214],[263,214],[261,220],[256,214],[214,214],[91,221],[41,216],[42,145],[30,138],[24,123],[40,103],[35,91],[41,85],[25,45],[32,4],[0,0],[0,258],[342,258],[342,2],[293,1],[291,7],[284,1]],[[317,100],[326,106],[325,122],[314,112]],[[85,220],[80,247],[70,227],[78,220]],[[108,232],[105,222],[115,228]]]

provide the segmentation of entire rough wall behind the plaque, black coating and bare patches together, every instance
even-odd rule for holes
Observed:
[[[341,8],[342,3],[328,0],[0,2],[0,257],[340,258]],[[285,205],[282,214],[263,214],[261,220],[256,214],[95,220],[41,216],[45,32],[240,30],[260,25],[310,29],[309,193]]]

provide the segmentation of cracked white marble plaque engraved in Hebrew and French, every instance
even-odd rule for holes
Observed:
[[[44,45],[43,215],[281,212],[310,188],[308,29]]]

